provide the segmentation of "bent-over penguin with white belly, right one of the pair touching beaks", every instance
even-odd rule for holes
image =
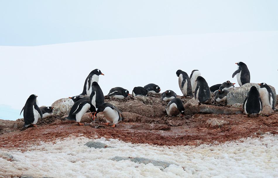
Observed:
[[[96,108],[97,113],[103,112],[103,115],[105,117],[106,123],[104,125],[109,125],[110,123],[113,123],[111,127],[115,127],[116,124],[118,124],[119,121],[124,119],[123,113],[119,111],[115,106],[113,106],[110,103],[104,103],[102,105],[99,105]]]

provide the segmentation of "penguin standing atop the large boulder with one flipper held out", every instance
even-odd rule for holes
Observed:
[[[236,75],[239,86],[245,83],[250,83],[250,72],[248,67],[243,62],[236,63],[238,65],[237,70],[233,73],[232,78]]]

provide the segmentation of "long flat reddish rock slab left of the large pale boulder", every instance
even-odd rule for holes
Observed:
[[[229,108],[229,107],[220,107],[213,105],[200,105],[200,113],[204,114],[241,114],[241,109]]]

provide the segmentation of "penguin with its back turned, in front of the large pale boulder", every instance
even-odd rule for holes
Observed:
[[[248,116],[258,116],[262,111],[262,100],[255,86],[252,86],[243,102],[243,110]]]

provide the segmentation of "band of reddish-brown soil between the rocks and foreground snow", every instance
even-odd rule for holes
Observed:
[[[229,124],[220,128],[206,124],[210,118],[228,121]],[[177,119],[179,119],[177,117]],[[95,123],[93,126],[101,125]],[[142,129],[146,126],[146,129]],[[138,126],[140,129],[134,129]],[[278,113],[264,117],[244,117],[243,114],[219,115],[219,114],[195,114],[190,119],[184,119],[182,126],[171,126],[171,130],[150,130],[149,125],[133,122],[121,122],[115,128],[94,128],[92,126],[78,126],[75,122],[56,120],[47,125],[37,128],[28,128],[25,131],[13,131],[0,135],[0,148],[24,148],[30,143],[39,141],[53,141],[57,138],[66,138],[69,135],[79,135],[88,138],[95,136],[115,138],[131,143],[149,143],[156,145],[199,145],[213,143],[214,141],[225,142],[258,136],[265,132],[278,134]],[[131,129],[131,127],[133,129]],[[256,134],[255,134],[256,133]]]

